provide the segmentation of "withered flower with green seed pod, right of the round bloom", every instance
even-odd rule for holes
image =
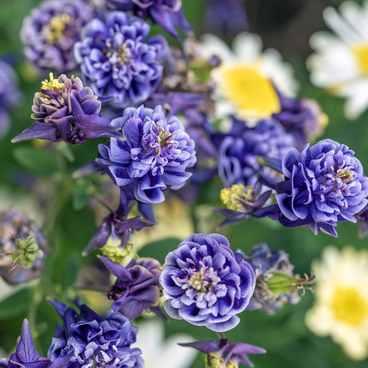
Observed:
[[[273,314],[285,303],[300,302],[299,289],[309,289],[306,285],[315,278],[302,279],[294,275],[294,266],[284,251],[270,249],[267,244],[253,246],[244,257],[255,272],[255,291],[246,309],[262,309]]]

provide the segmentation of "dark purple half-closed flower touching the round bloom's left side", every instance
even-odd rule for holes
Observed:
[[[99,256],[108,270],[117,277],[108,298],[115,300],[113,311],[120,311],[130,320],[140,316],[145,309],[161,314],[158,304],[160,297],[159,275],[161,264],[153,258],[132,260],[123,267],[106,257]]]

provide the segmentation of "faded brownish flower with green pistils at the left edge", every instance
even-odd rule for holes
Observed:
[[[0,213],[0,274],[8,284],[39,277],[48,250],[43,233],[25,214],[17,209]]]

